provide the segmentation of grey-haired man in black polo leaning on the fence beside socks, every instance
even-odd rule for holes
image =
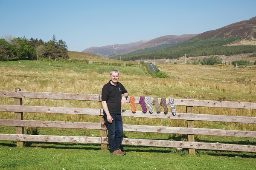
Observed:
[[[125,155],[120,149],[122,143],[122,116],[121,104],[126,104],[128,92],[125,87],[118,82],[119,71],[110,72],[110,81],[102,88],[102,108],[105,125],[108,129],[108,146],[110,154]]]

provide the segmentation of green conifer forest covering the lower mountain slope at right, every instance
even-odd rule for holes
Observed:
[[[211,55],[230,56],[236,54],[256,53],[256,45],[226,46],[227,44],[239,39],[239,37],[230,37],[227,39],[215,38],[210,40],[195,38],[175,45],[160,45],[155,48],[145,48],[143,50],[122,55],[121,58],[127,60],[154,59],[154,57],[158,59],[175,59],[183,57],[185,54],[187,57],[195,57]],[[119,57],[113,57],[113,59],[119,59]]]

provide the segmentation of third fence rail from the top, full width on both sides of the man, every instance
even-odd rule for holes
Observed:
[[[55,121],[38,121],[38,120],[0,119],[0,126],[51,127],[51,128],[106,130],[106,127],[103,126],[102,123],[55,122]],[[188,134],[188,135],[195,134],[195,135],[209,135],[209,136],[230,136],[230,137],[256,138],[255,131],[244,131],[244,130],[223,130],[223,129],[127,125],[127,124],[123,124],[123,130],[124,131],[134,131],[134,132],[177,133],[177,134]]]

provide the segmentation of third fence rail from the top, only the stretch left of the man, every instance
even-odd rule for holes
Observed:
[[[102,123],[0,119],[0,126],[101,129]]]

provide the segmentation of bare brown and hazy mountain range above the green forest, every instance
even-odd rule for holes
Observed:
[[[190,40],[195,40],[197,38],[200,38],[201,40],[211,40],[211,39],[213,40],[216,38],[227,39],[231,37],[239,37],[239,40],[229,42],[227,44],[224,44],[223,46],[256,45],[256,17],[250,18],[249,20],[233,23],[228,26],[218,28],[216,30],[206,31],[201,34],[183,34],[180,36],[166,35],[166,36],[157,37],[153,40],[147,40],[147,41],[137,41],[137,42],[131,42],[128,44],[106,45],[103,47],[90,47],[83,50],[82,52],[97,54],[102,57],[107,57],[107,54],[109,57],[115,57],[119,55],[121,56],[124,54],[129,55],[129,53],[131,52],[135,52],[138,55],[141,52],[146,52],[146,53],[148,53],[148,51],[159,52],[160,49],[155,47],[158,47],[159,45],[163,45],[163,44],[171,46],[171,45],[178,45],[180,42],[185,42],[185,40],[190,41]],[[189,51],[192,52],[193,54],[196,54],[193,51],[195,49],[200,50],[199,48],[200,47],[190,49]],[[174,51],[173,49],[174,48],[172,48],[172,51]],[[143,51],[140,51],[140,50],[143,50]],[[173,54],[173,55],[177,57],[179,56],[177,54]]]

